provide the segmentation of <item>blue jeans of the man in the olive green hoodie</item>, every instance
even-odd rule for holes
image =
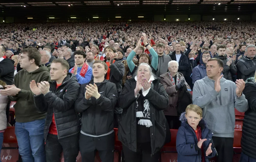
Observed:
[[[24,162],[45,162],[44,146],[45,119],[27,123],[15,123],[15,134],[19,145],[19,154]]]

